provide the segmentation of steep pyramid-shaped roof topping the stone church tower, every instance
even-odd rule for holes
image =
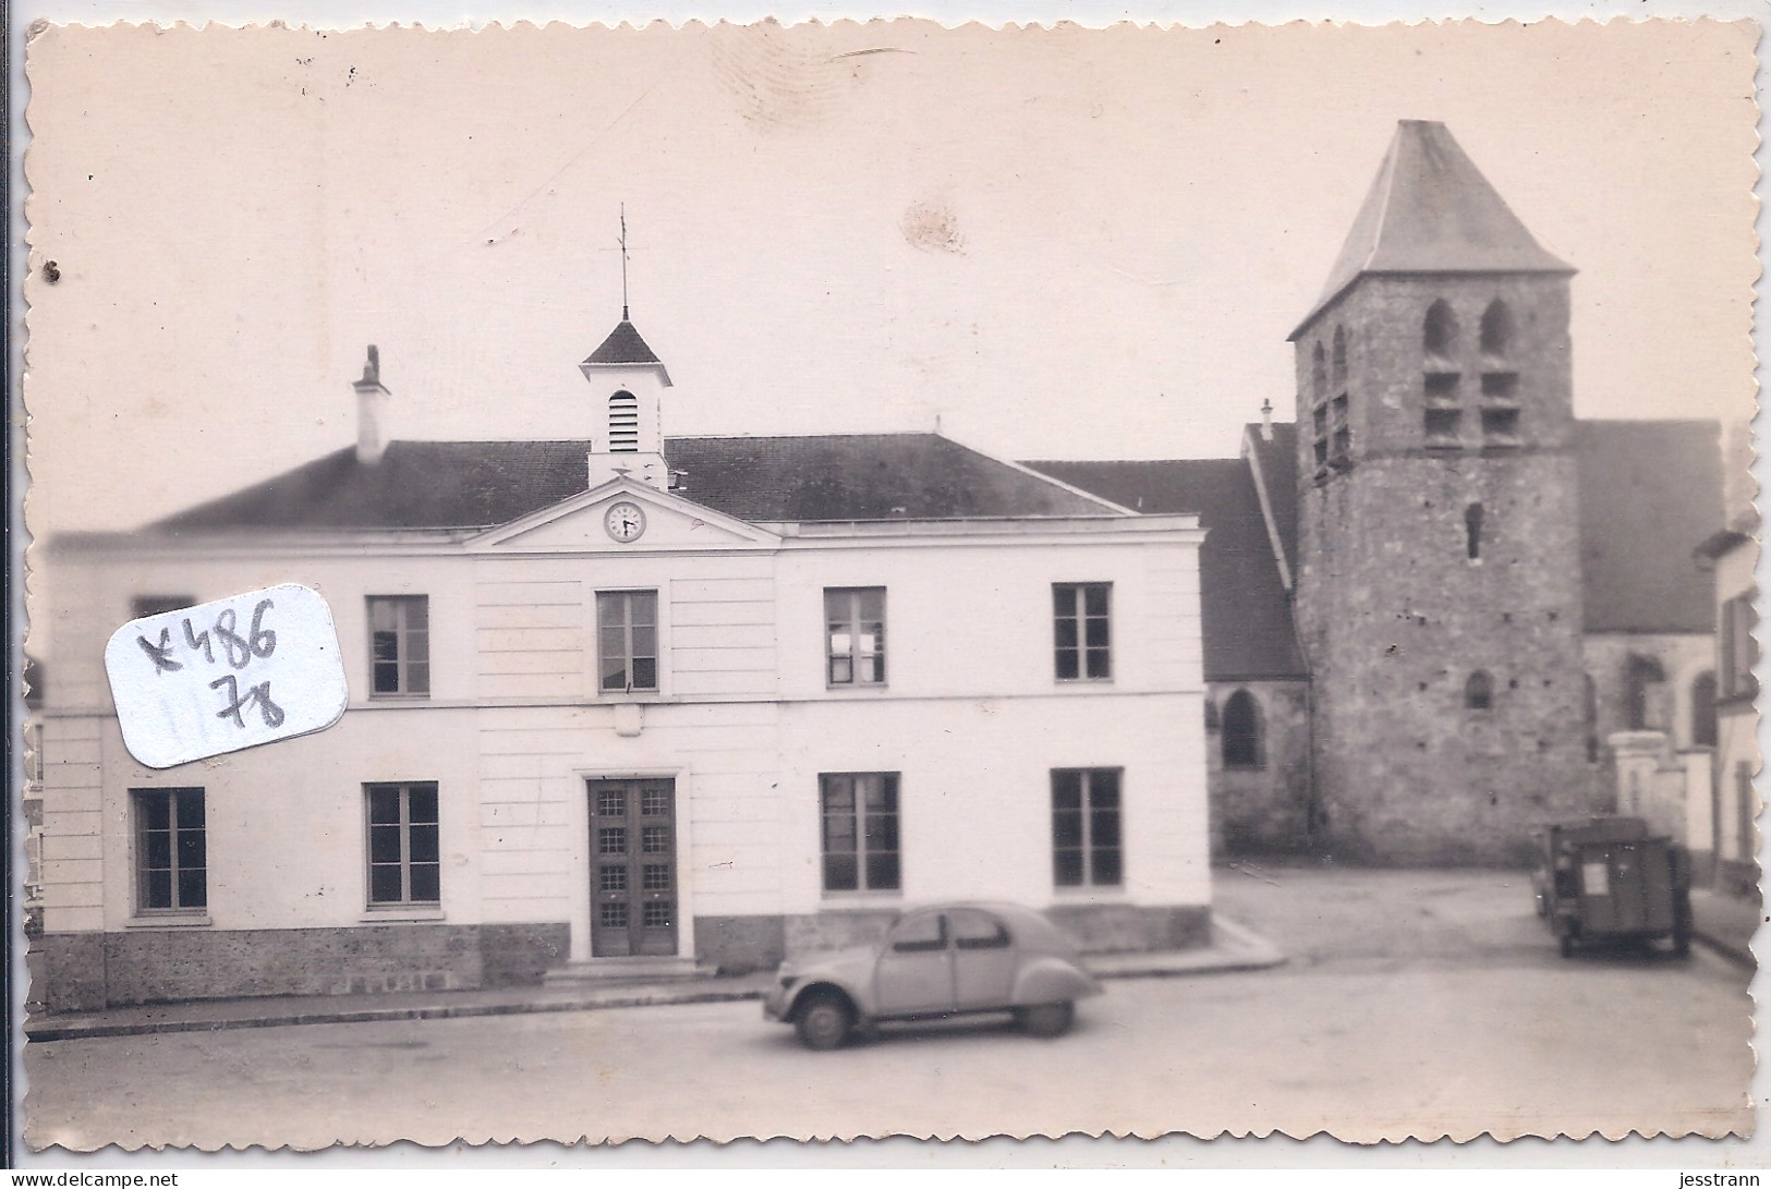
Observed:
[[[1436,120],[1399,120],[1303,330],[1365,273],[1573,273]],[[1293,338],[1298,335],[1293,331]]]

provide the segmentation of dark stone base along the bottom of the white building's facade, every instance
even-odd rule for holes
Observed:
[[[1187,950],[1211,941],[1208,905],[1056,905],[1047,914],[1086,953]],[[723,975],[770,969],[815,950],[871,944],[896,909],[701,916],[696,959]],[[253,996],[388,994],[540,985],[572,952],[565,921],[356,925],[344,929],[44,934],[50,1012]]]

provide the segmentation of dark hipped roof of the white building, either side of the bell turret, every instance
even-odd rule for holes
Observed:
[[[393,441],[336,450],[179,512],[161,532],[489,528],[588,482],[588,441]],[[937,434],[673,438],[678,493],[747,521],[1109,516],[1107,505]]]

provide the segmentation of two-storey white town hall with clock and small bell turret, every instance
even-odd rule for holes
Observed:
[[[664,438],[625,310],[581,369],[577,439],[386,441],[372,349],[354,448],[53,542],[51,1010],[749,969],[942,898],[1206,937],[1197,517],[933,434]],[[275,583],[344,718],[135,762],[103,641]]]

